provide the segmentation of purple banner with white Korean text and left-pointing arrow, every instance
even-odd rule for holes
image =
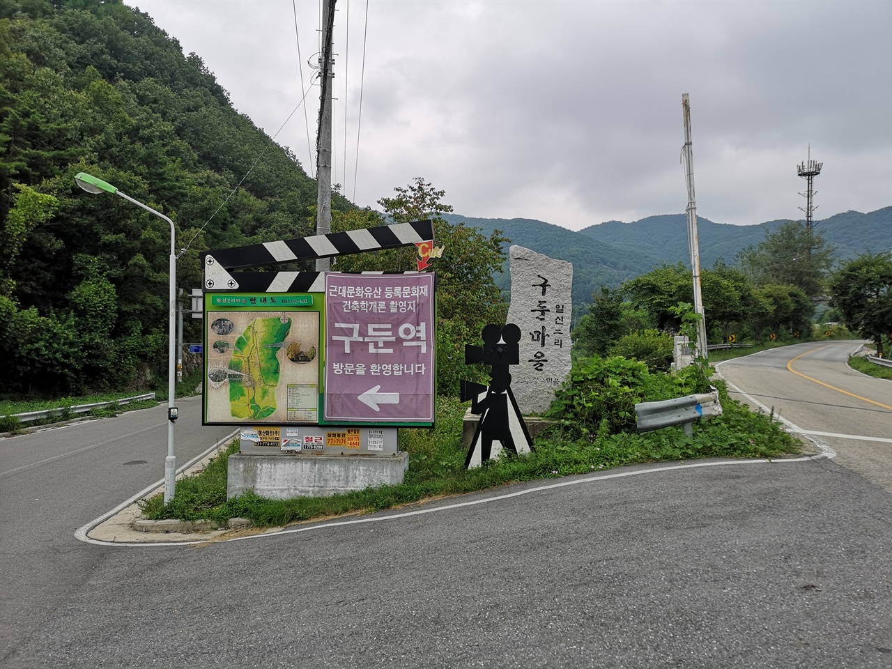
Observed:
[[[433,423],[434,341],[433,274],[326,274],[326,421]]]

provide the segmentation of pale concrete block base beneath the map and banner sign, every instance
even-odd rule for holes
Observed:
[[[253,491],[260,497],[327,497],[337,492],[402,483],[409,453],[375,456],[231,455],[227,467],[227,499]]]

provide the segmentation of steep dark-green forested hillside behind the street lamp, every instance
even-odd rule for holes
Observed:
[[[186,289],[200,285],[199,252],[314,229],[315,182],[147,14],[120,0],[3,0],[6,391],[122,387],[164,359],[169,226],[82,192],[80,171],[174,219]],[[335,195],[333,207],[351,205]]]

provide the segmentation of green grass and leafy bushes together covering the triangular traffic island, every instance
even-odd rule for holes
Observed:
[[[161,495],[147,500],[146,518],[250,518],[257,526],[280,526],[348,513],[367,513],[449,495],[496,488],[508,483],[594,475],[615,467],[695,458],[780,458],[798,452],[797,442],[772,417],[755,414],[731,400],[722,382],[723,415],[694,423],[693,437],[681,427],[654,433],[635,432],[634,405],[708,390],[698,366],[678,375],[650,372],[647,365],[621,357],[593,357],[574,364],[569,382],[547,417],[555,422],[535,442],[528,456],[508,454],[483,467],[466,470],[461,442],[467,404],[455,397],[437,400],[433,431],[400,430],[400,448],[409,452],[409,471],[400,485],[386,485],[333,497],[267,500],[252,493],[227,500],[227,459],[231,444],[200,474],[177,483],[168,505]]]

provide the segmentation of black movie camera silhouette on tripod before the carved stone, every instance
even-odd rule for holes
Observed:
[[[504,327],[485,326],[483,347],[465,346],[466,365],[483,362],[491,367],[488,387],[470,381],[461,382],[461,401],[470,400],[471,413],[480,416],[471,448],[467,450],[466,469],[479,467],[486,460],[497,457],[502,449],[515,453],[533,450],[533,440],[511,392],[509,367],[520,364],[519,342],[520,328],[508,323]]]

